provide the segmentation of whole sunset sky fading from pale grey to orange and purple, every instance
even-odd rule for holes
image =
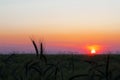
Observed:
[[[0,52],[120,50],[120,0],[0,0]]]

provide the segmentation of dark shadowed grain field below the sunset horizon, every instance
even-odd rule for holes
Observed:
[[[0,80],[120,80],[120,55],[0,55]]]

